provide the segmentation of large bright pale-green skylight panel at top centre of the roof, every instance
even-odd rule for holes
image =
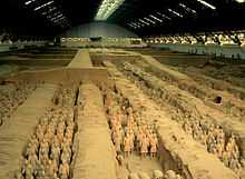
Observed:
[[[102,0],[95,20],[107,20],[125,0]]]

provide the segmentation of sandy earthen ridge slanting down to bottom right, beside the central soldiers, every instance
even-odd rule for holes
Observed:
[[[177,169],[188,179],[237,179],[214,155],[187,136],[180,126],[173,121],[167,111],[163,111],[149,100],[134,83],[126,79],[116,67],[104,62],[115,80],[116,88],[126,97],[134,109],[141,111],[143,120],[151,120],[158,129],[163,167]],[[173,161],[174,160],[174,161]],[[166,162],[165,162],[166,161]]]

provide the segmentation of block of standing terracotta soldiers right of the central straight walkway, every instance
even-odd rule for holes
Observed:
[[[143,123],[140,116],[130,106],[125,107],[112,90],[106,92],[105,105],[111,128],[111,138],[117,153],[129,156],[138,152],[141,156],[157,155],[158,139],[154,126]]]

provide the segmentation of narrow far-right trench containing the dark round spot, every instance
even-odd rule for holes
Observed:
[[[245,103],[243,100],[237,99],[234,95],[229,92],[225,92],[222,87],[223,82],[218,82],[219,89],[214,89],[212,86],[206,86],[206,81],[209,81],[208,77],[204,77],[203,79],[198,77],[196,73],[192,73],[192,78],[188,76],[178,72],[176,70],[171,70],[165,64],[159,63],[155,59],[150,57],[143,57],[144,62],[135,61],[134,63],[139,66],[141,69],[147,71],[153,76],[157,76],[159,79],[164,79],[169,83],[178,87],[182,90],[188,91],[194,97],[199,98],[206,106],[210,108],[215,108],[226,115],[229,115],[234,119],[244,121],[245,115]],[[169,72],[170,71],[170,72]],[[184,78],[179,78],[178,76],[184,76]],[[198,80],[196,79],[198,77]],[[222,90],[220,90],[222,89]],[[223,98],[220,103],[215,103],[214,98],[220,96]]]

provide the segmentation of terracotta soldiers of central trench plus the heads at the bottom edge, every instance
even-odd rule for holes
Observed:
[[[104,90],[105,107],[111,129],[111,140],[117,152],[119,165],[130,155],[141,158],[158,158],[159,141],[156,126],[143,122],[140,115],[134,111],[128,100],[110,89]],[[174,170],[163,172],[154,170],[154,179],[182,179]],[[130,172],[128,179],[150,179],[146,172]]]

